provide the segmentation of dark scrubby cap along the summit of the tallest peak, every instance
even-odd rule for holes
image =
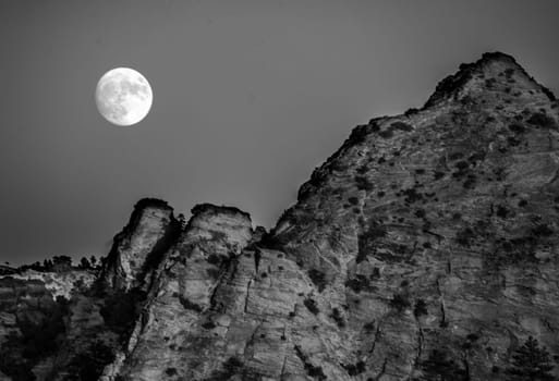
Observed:
[[[486,78],[498,79],[496,69],[498,69],[499,72],[512,70],[522,73],[522,75],[532,82],[534,88],[540,89],[550,100],[556,99],[555,95],[527,74],[524,67],[522,67],[512,56],[495,51],[484,53],[482,58],[475,62],[460,64],[457,73],[445,77],[437,84],[435,93],[429,97],[423,109],[430,108],[440,101],[451,99],[467,87],[474,79],[475,74],[485,75]]]

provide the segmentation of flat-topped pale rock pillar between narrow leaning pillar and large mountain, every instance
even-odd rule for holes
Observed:
[[[137,366],[126,360],[118,366],[120,374],[154,380],[165,378],[168,368],[184,369],[186,364],[177,355],[183,346],[195,347],[190,335],[199,330],[198,320],[212,308],[216,287],[252,238],[250,216],[236,208],[204,204],[192,213],[186,231],[162,263],[129,343],[125,358],[134,354]]]

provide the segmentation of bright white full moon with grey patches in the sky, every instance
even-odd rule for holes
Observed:
[[[108,71],[95,90],[97,110],[116,125],[133,125],[142,121],[149,112],[153,99],[147,79],[130,67]]]

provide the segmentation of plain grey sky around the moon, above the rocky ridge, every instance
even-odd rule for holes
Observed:
[[[373,116],[421,107],[461,62],[510,53],[559,89],[559,1],[0,2],[0,259],[105,255],[145,196],[274,225]],[[116,127],[95,85],[131,66],[149,115]]]

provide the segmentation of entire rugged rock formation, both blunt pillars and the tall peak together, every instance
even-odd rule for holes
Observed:
[[[357,126],[270,233],[236,208],[197,206],[183,226],[166,202],[138,202],[95,285],[61,312],[68,346],[29,368],[37,380],[505,380],[530,335],[559,355],[558,148],[549,90],[484,54],[423,109]],[[20,337],[10,303],[0,332]]]

